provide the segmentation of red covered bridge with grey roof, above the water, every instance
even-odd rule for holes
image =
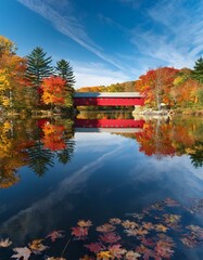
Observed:
[[[139,92],[75,92],[74,106],[143,106]]]

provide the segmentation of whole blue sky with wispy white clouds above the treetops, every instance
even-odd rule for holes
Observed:
[[[203,55],[202,0],[0,0],[0,35],[20,55],[67,60],[76,88],[136,80]]]

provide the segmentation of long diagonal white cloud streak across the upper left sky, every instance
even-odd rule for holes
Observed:
[[[79,23],[76,16],[74,16],[73,14],[74,11],[71,1],[65,2],[62,1],[62,3],[60,1],[60,4],[59,1],[56,2],[55,0],[48,1],[17,0],[17,1],[27,6],[28,9],[30,9],[31,11],[41,15],[43,18],[49,21],[56,30],[69,37],[78,44],[84,47],[86,50],[94,53],[97,56],[114,65],[115,67],[123,69],[123,66],[119,64],[118,61],[116,61],[114,57],[111,57],[110,55],[104,54],[102,48],[96,44],[96,42],[88,36],[84,25]],[[58,11],[59,8],[55,9],[55,6],[58,5],[64,6],[64,4],[68,5],[68,9],[66,9],[66,14],[62,15],[61,12]]]

